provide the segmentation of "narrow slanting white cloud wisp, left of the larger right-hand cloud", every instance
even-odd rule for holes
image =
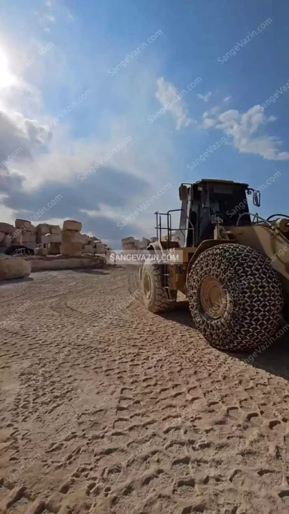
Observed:
[[[166,82],[164,77],[157,79],[156,82],[158,90],[155,96],[162,107],[176,119],[176,130],[193,123],[194,120],[188,118],[188,110],[183,105],[182,97],[179,96],[177,88],[170,82]]]

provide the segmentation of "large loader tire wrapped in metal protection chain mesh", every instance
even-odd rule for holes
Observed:
[[[281,284],[269,259],[250,247],[205,250],[193,264],[187,290],[196,328],[220,350],[256,348],[280,323]]]

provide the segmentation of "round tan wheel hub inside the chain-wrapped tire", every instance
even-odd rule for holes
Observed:
[[[201,285],[200,300],[206,314],[214,319],[221,318],[227,306],[227,295],[219,280],[206,277]]]

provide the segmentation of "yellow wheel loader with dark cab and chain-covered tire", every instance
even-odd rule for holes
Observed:
[[[195,327],[212,346],[229,352],[268,341],[289,305],[289,216],[252,214],[247,195],[260,207],[260,191],[246,183],[182,183],[181,208],[155,213],[157,237],[147,248],[178,260],[146,262],[140,269],[150,311],[172,309],[181,291]],[[176,211],[180,221],[173,229]]]

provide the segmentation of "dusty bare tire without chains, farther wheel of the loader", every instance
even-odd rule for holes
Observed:
[[[141,274],[142,298],[151,313],[160,313],[175,307],[177,291],[171,291],[172,301],[168,300],[162,287],[161,272],[164,266],[145,264]]]

